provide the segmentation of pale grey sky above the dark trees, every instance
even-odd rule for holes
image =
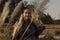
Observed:
[[[29,3],[34,0],[29,0]],[[37,0],[35,0],[37,1]],[[50,2],[47,4],[48,9],[45,11],[51,15],[53,19],[60,19],[60,0],[50,0]]]

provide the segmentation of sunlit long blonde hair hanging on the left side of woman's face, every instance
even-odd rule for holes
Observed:
[[[17,21],[13,27],[14,27],[14,30],[13,30],[13,33],[12,33],[12,40],[14,39],[15,35],[17,35],[17,33],[19,32],[19,29],[21,28],[22,26],[22,15],[20,16],[19,18],[19,21]]]

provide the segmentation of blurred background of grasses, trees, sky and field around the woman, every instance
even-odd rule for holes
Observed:
[[[12,26],[27,5],[35,8],[38,19],[46,28],[37,40],[60,40],[59,4],[60,0],[0,0],[0,40],[11,40]]]

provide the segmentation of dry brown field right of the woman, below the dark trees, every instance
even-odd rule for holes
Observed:
[[[48,40],[60,40],[60,25],[59,24],[45,24],[45,30],[42,32],[43,40],[48,38]],[[43,36],[44,35],[44,36]]]

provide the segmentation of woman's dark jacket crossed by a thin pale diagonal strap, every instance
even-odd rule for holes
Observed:
[[[30,20],[23,21],[23,25],[18,32],[18,34],[15,36],[14,40],[20,40],[22,34],[26,30],[27,26],[29,25]],[[36,25],[32,22],[29,29],[25,33],[22,40],[35,40],[37,36],[45,29],[44,26],[37,28]]]

